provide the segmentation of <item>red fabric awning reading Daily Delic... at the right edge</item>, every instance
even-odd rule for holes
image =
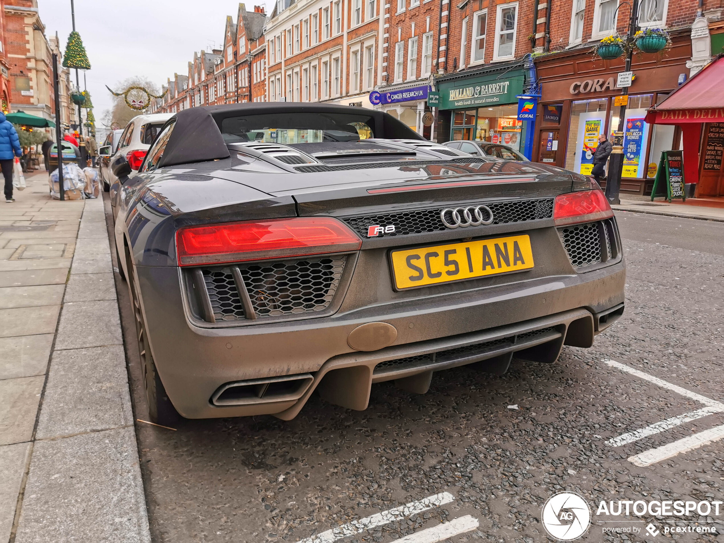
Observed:
[[[681,125],[688,122],[724,122],[724,54],[649,109],[646,122]]]

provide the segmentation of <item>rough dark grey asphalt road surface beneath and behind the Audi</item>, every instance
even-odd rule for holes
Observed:
[[[594,348],[566,347],[552,365],[514,360],[500,377],[471,367],[443,371],[426,395],[376,384],[366,411],[313,397],[289,422],[184,421],[176,432],[137,423],[153,540],[295,543],[317,535],[390,543],[418,534],[405,542],[434,542],[442,539],[423,531],[455,521],[450,529],[468,528],[447,541],[531,543],[546,541],[542,505],[563,490],[594,507],[583,541],[652,541],[649,522],[662,532],[656,540],[717,539],[664,534],[670,517],[597,521],[600,500],[724,499],[724,440],[648,467],[629,460],[724,424],[716,407],[724,402],[724,224],[626,212],[618,221],[628,259],[626,313]],[[128,341],[125,283],[119,293]],[[146,418],[135,345],[127,342],[127,353],[136,416]],[[618,447],[606,443],[707,405],[712,412],[695,420]],[[442,505],[344,526],[445,492],[451,496]],[[677,520],[724,531],[723,518]],[[603,533],[615,526],[640,533]]]

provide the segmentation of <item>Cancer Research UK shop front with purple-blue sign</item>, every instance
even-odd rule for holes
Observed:
[[[369,93],[369,103],[376,109],[382,109],[392,117],[400,119],[405,125],[426,140],[430,139],[432,122],[426,122],[429,85],[426,80],[418,80],[404,85],[387,85]],[[428,116],[429,117],[429,116]]]

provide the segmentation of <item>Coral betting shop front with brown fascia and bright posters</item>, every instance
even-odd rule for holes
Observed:
[[[670,51],[639,54],[633,59],[633,85],[628,89],[623,147],[626,156],[622,193],[650,193],[662,151],[681,148],[681,130],[653,126],[647,110],[660,104],[689,74],[691,40],[675,38]],[[563,51],[536,59],[542,98],[538,106],[532,160],[588,175],[600,134],[618,128],[623,57],[605,61],[589,49]],[[683,77],[681,77],[683,76]]]

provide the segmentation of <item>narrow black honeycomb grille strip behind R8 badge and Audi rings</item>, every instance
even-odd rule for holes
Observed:
[[[479,205],[480,203],[482,202],[465,205]],[[485,205],[493,212],[492,224],[550,219],[553,216],[553,198],[485,202]],[[450,205],[449,207],[454,209],[456,206]],[[447,230],[447,227],[445,227],[445,224],[442,224],[442,220],[440,219],[440,212],[443,209],[445,208],[416,209],[415,211],[403,211],[402,213],[345,217],[342,220],[344,220],[352,230],[361,235],[363,239],[367,237],[368,227],[376,224],[395,225],[395,232],[391,234],[381,234],[377,237],[444,232]]]

